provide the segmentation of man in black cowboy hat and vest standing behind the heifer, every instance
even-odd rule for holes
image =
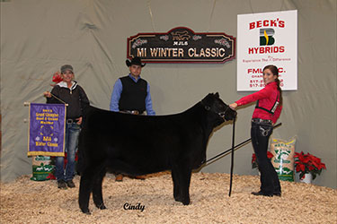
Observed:
[[[134,115],[155,116],[155,110],[152,108],[152,99],[150,94],[150,85],[146,80],[140,78],[142,68],[146,65],[141,62],[138,56],[127,59],[126,64],[129,67],[129,75],[120,77],[114,84],[110,110]],[[138,179],[144,179],[137,176]],[[116,181],[122,181],[121,174],[116,175]]]

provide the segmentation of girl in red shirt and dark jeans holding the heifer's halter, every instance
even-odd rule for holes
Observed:
[[[261,187],[259,192],[253,192],[252,194],[280,196],[279,177],[267,157],[268,142],[273,124],[278,120],[282,109],[279,69],[275,65],[267,65],[263,68],[263,82],[265,87],[262,90],[235,101],[229,107],[235,109],[238,106],[257,101],[252,117],[251,136],[253,150],[261,173]]]

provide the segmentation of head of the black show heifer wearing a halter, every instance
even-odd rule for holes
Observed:
[[[201,105],[208,111],[208,118],[215,122],[215,126],[234,120],[237,114],[219,98],[218,93],[209,93],[201,100]]]

